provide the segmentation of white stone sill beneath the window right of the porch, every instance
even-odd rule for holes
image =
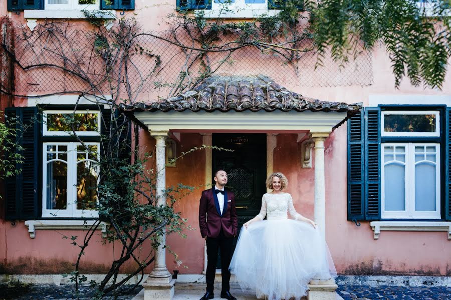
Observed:
[[[374,239],[379,238],[380,231],[447,231],[451,240],[451,222],[444,221],[372,221]]]

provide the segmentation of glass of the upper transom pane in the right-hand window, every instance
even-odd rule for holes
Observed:
[[[435,132],[435,114],[384,114],[385,132]]]

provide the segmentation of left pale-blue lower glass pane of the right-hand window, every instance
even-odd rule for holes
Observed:
[[[405,210],[405,166],[389,163],[384,172],[385,210]]]

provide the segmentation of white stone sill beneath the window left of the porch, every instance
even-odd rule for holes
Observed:
[[[28,228],[31,238],[36,237],[36,230],[87,230],[96,220],[28,220],[25,226]],[[97,230],[101,230],[102,237],[106,237],[109,224],[100,222]]]

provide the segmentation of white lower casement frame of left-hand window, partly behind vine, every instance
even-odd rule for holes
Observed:
[[[97,159],[100,158],[100,142],[85,142],[86,145],[97,145]],[[47,146],[67,145],[67,204],[66,209],[47,209]],[[42,216],[43,217],[99,217],[99,212],[93,209],[77,209],[77,146],[80,142],[44,142],[42,167]],[[55,161],[58,159],[52,159]],[[90,159],[88,159],[90,160]],[[99,167],[97,167],[99,173]],[[97,178],[99,180],[99,178]],[[99,183],[99,181],[97,181]]]

